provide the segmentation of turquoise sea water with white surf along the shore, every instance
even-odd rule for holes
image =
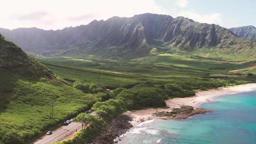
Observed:
[[[120,144],[256,144],[256,91],[213,99],[212,109],[185,120],[155,120],[132,129]]]

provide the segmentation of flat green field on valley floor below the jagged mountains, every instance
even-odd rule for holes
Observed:
[[[191,54],[165,53],[147,57],[118,61],[97,59],[95,57],[51,57],[40,59],[47,68],[64,79],[84,82],[99,82],[109,87],[130,87],[143,81],[174,82],[174,81],[205,81],[210,75],[221,74],[225,79],[244,80],[245,75],[235,78],[229,72],[235,69],[247,68],[251,63],[226,62],[202,58]],[[246,74],[246,73],[245,73]]]

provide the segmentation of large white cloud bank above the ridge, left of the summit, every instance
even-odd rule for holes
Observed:
[[[155,0],[4,0],[0,27],[61,29],[93,19],[132,17],[146,12],[166,14]]]

